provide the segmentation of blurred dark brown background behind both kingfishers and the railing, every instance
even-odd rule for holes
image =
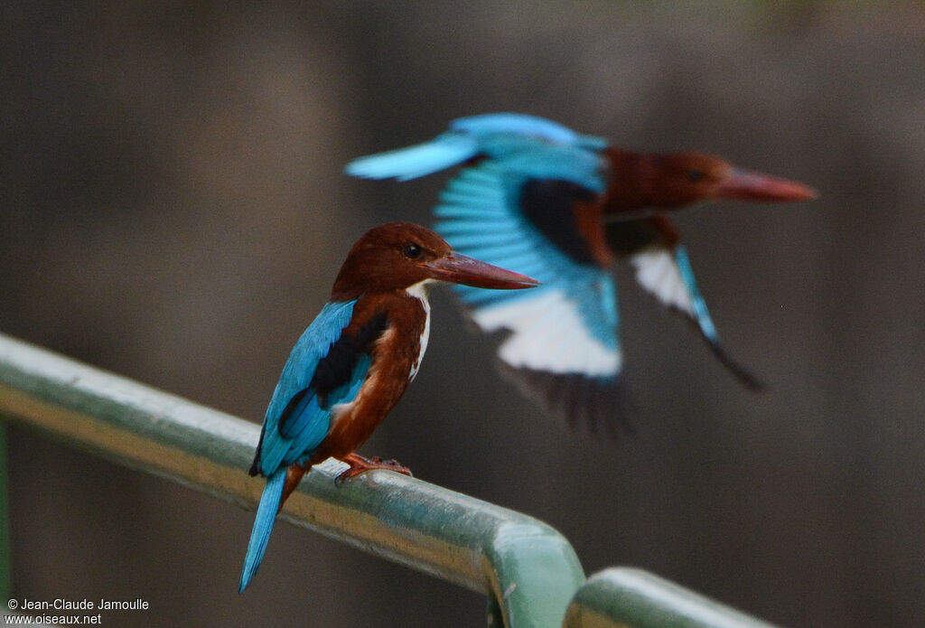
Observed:
[[[500,382],[445,289],[364,451],[524,511],[587,573],[635,565],[790,626],[925,613],[925,7],[268,2],[0,6],[0,330],[259,421],[366,228],[446,175],[343,176],[519,111],[707,150],[815,203],[677,215],[739,388],[625,271],[639,436],[568,434]],[[484,598],[19,431],[14,594],[142,597],[110,625],[484,624]]]

